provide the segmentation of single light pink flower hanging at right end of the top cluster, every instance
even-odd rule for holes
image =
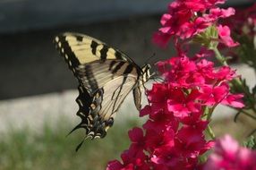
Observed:
[[[230,37],[230,30],[227,26],[218,26],[218,36],[219,41],[226,45],[226,47],[236,47],[239,45],[238,42],[234,42],[234,40]]]

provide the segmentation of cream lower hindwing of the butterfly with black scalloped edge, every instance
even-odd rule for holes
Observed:
[[[136,78],[131,75],[119,76],[98,89],[92,98],[87,98],[86,91],[79,87],[80,94],[76,101],[80,106],[77,115],[81,117],[81,123],[75,129],[84,128],[92,138],[105,137],[107,129],[114,123],[117,110],[136,83]],[[86,109],[89,112],[84,112]]]

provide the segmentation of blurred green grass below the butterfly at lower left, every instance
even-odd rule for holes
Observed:
[[[114,124],[104,139],[86,140],[78,152],[77,144],[84,132],[77,131],[66,137],[73,129],[68,121],[59,121],[56,127],[45,124],[43,129],[10,129],[1,134],[1,170],[51,170],[51,169],[105,169],[109,160],[120,157],[129,148],[128,130],[137,122]]]

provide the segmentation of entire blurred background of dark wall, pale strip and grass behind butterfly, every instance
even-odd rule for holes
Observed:
[[[88,140],[75,153],[84,133],[66,134],[80,123],[75,115],[77,81],[52,40],[64,31],[81,32],[121,49],[139,65],[156,55],[150,60],[153,64],[175,54],[172,47],[163,50],[151,44],[168,3],[1,0],[0,169],[104,169],[107,161],[119,158],[129,147],[128,129],[143,123],[132,96],[124,101],[107,137]],[[230,0],[226,6],[250,4],[252,1]],[[248,76],[249,84],[255,83],[252,70],[235,67]],[[226,118],[218,120],[224,122]]]

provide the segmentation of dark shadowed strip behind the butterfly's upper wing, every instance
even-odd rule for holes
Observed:
[[[163,60],[172,54],[151,43],[160,16],[133,17],[52,30],[37,30],[0,36],[0,99],[75,89],[77,82],[52,43],[55,35],[75,31],[117,47],[139,65]]]

